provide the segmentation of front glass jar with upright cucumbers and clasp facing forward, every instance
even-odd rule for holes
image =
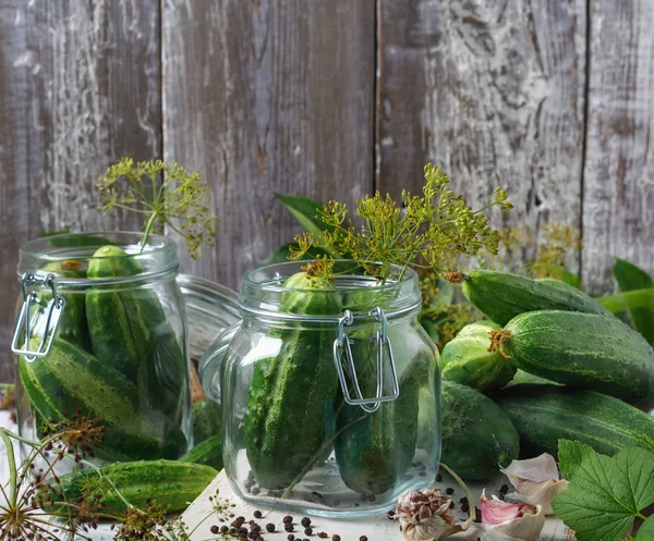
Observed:
[[[301,265],[246,272],[242,323],[201,361],[222,402],[227,476],[262,506],[387,511],[432,484],[440,458],[438,352],[417,321],[417,275],[391,268],[380,285],[339,261],[332,290],[286,287]]]

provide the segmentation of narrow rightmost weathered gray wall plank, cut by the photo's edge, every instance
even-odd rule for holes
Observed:
[[[613,288],[613,256],[654,272],[654,3],[591,0],[584,283]]]

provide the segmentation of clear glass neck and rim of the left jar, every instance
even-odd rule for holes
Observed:
[[[150,235],[142,249],[142,238],[141,233],[131,232],[72,233],[37,238],[21,246],[17,274],[19,278],[25,273],[40,278],[53,274],[58,283],[71,287],[177,274],[179,259],[174,242],[161,235]],[[107,246],[119,247],[121,253],[102,255],[101,259],[129,267],[129,275],[101,279],[87,275],[92,262],[100,259],[96,251]]]

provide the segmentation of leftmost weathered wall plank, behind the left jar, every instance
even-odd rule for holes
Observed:
[[[0,0],[0,280],[19,293],[19,246],[41,230],[136,229],[102,219],[96,177],[121,156],[160,155],[157,0]],[[11,376],[12,309],[0,315]]]

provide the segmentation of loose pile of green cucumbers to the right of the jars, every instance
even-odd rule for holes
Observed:
[[[580,290],[474,270],[463,293],[489,321],[441,353],[443,462],[488,479],[519,454],[556,456],[559,439],[600,453],[654,451],[654,351]],[[519,437],[519,440],[518,440]]]

